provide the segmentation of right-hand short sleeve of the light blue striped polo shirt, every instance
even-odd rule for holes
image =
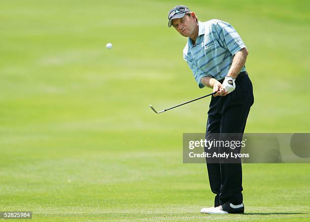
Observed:
[[[231,55],[235,55],[243,48],[246,48],[236,29],[229,23],[219,21],[214,25],[214,27],[218,35],[218,43],[221,47],[227,49]]]

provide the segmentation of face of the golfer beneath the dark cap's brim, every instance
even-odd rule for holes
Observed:
[[[189,37],[196,28],[196,16],[190,14],[180,19],[173,19],[172,26],[184,37]]]

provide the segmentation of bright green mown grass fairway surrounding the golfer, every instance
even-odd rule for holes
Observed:
[[[309,1],[2,1],[0,211],[31,221],[309,221],[310,164],[243,164],[244,215],[182,163],[210,98],[167,27],[178,4],[235,26],[250,52],[246,132],[309,132]],[[107,50],[107,42],[113,44]],[[22,221],[22,220],[19,220]],[[28,220],[26,220],[28,221]]]

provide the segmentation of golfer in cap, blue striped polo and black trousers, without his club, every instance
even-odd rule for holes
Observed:
[[[247,48],[229,23],[212,19],[198,21],[186,6],[176,6],[168,14],[173,26],[187,38],[183,58],[198,86],[213,88],[206,128],[210,134],[243,134],[250,107],[254,102],[253,87],[245,68]],[[242,166],[240,163],[207,163],[211,191],[216,195],[214,207],[201,213],[244,213]]]

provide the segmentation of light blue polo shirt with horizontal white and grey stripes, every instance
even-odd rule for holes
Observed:
[[[183,58],[200,88],[205,87],[201,82],[204,76],[216,80],[223,79],[231,66],[234,55],[246,48],[240,35],[229,23],[212,19],[207,22],[199,21],[196,44],[188,38],[183,50]],[[245,71],[245,67],[241,69]]]

